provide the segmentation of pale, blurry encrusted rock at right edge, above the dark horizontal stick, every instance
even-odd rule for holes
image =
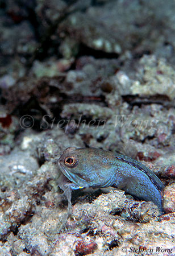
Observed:
[[[165,59],[157,59],[156,56],[142,57],[138,76],[141,76],[141,81],[135,81],[132,84],[132,94],[141,96],[159,94],[168,97],[171,101],[174,99],[175,71]]]

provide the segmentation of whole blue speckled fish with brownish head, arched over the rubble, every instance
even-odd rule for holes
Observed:
[[[129,156],[99,148],[69,147],[59,159],[72,189],[115,187],[141,200],[153,201],[162,212],[160,179]]]

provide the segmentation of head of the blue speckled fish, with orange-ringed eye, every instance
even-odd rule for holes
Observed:
[[[110,177],[101,152],[95,148],[68,147],[60,156],[60,170],[77,188],[104,187]]]

